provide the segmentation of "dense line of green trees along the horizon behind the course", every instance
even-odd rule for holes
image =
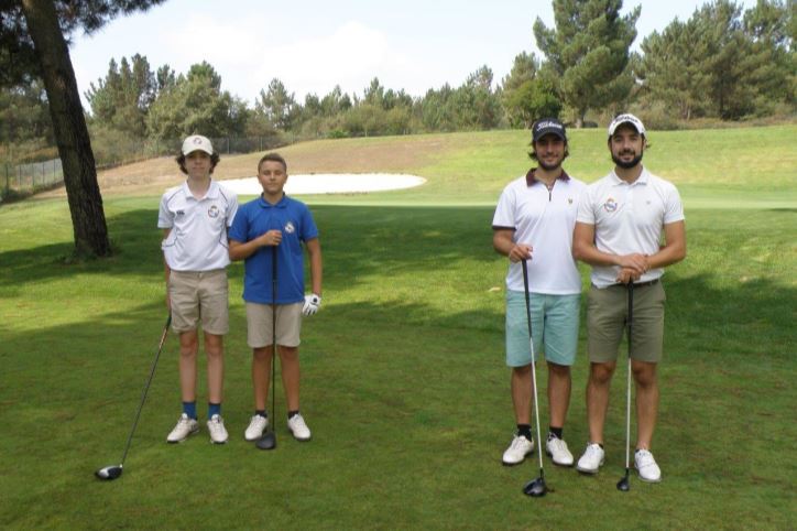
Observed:
[[[459,86],[421,97],[378,78],[360,94],[336,86],[297,100],[277,78],[253,105],[222,89],[212,65],[175,73],[146,57],[110,61],[85,97],[92,138],[163,140],[203,131],[210,137],[358,137],[527,128],[541,116],[581,126],[587,116],[633,108],[654,127],[696,118],[740,120],[795,112],[794,3],[758,0],[746,11],[716,0],[686,21],[630,51],[640,9],[621,15],[622,0],[554,0],[555,25],[539,19],[533,33],[542,57],[521,53],[495,82],[481,66]],[[13,72],[7,73],[7,77]],[[52,142],[46,96],[35,75],[6,79],[0,93],[0,140]],[[111,144],[113,142],[110,142]],[[99,144],[99,142],[98,142]]]

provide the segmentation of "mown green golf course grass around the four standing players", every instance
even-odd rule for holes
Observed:
[[[721,133],[706,131],[696,142],[720,145]],[[124,475],[107,484],[92,472],[121,456],[165,319],[157,197],[106,199],[117,254],[73,264],[64,263],[72,248],[65,202],[0,208],[2,525],[794,529],[794,192],[777,184],[782,199],[767,207],[768,189],[753,180],[739,186],[758,206],[707,194],[706,204],[690,208],[684,182],[689,254],[665,277],[666,354],[654,440],[664,481],[646,485],[634,475],[629,494],[614,488],[624,459],[621,370],[602,472],[583,477],[546,458],[555,491],[531,499],[521,488],[538,475],[536,455],[518,467],[500,464],[514,426],[503,365],[506,262],[490,241],[492,203],[505,174],[527,163],[512,154],[516,145],[504,145],[520,133],[480,134],[487,154],[457,160],[446,151],[438,173],[422,173],[434,193],[309,198],[325,258],[324,307],[303,328],[303,413],[312,443],[287,433],[280,384],[277,449],[259,452],[243,442],[250,354],[242,267],[234,264],[226,342],[230,443],[210,445],[203,430],[185,444],[165,444],[179,413],[176,340],[170,338]],[[575,132],[574,153],[577,141],[586,150],[601,138]],[[662,158],[665,148],[664,139],[655,144]],[[772,159],[794,158],[778,150]],[[656,162],[666,169],[683,160],[672,153],[672,163],[655,161],[653,153],[654,172]],[[609,167],[600,156],[585,162],[574,154],[568,163],[591,181]],[[794,163],[782,170],[794,181]],[[484,183],[471,187],[479,177]],[[695,186],[719,193],[710,178]],[[575,454],[587,437],[583,322],[566,425]],[[545,384],[541,370],[542,390]],[[199,412],[204,418],[204,407]]]

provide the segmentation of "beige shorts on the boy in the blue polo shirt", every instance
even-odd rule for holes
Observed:
[[[302,332],[302,306],[296,304],[276,305],[276,344],[298,347]],[[272,305],[247,303],[247,343],[252,348],[270,347],[274,343]]]

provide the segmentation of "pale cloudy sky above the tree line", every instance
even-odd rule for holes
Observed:
[[[687,20],[703,1],[626,0],[642,6],[637,37]],[[755,0],[738,1],[750,8]],[[75,35],[72,61],[83,95],[105,77],[111,58],[140,53],[153,72],[168,64],[185,73],[209,62],[222,88],[253,104],[280,78],[299,101],[335,85],[362,95],[375,76],[386,88],[422,96],[456,87],[482,65],[498,83],[515,55],[534,52],[539,17],[554,24],[552,2],[537,0],[168,0],[111,21],[94,35]],[[85,100],[85,98],[84,98]]]

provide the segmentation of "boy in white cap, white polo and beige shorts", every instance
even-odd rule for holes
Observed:
[[[219,163],[210,140],[185,139],[177,156],[188,177],[161,198],[157,226],[163,229],[166,306],[172,328],[179,334],[179,386],[183,414],[166,437],[179,443],[199,431],[196,413],[197,328],[201,322],[208,357],[208,431],[210,442],[228,435],[221,418],[223,336],[229,330],[227,230],[238,210],[236,194],[210,178]]]

